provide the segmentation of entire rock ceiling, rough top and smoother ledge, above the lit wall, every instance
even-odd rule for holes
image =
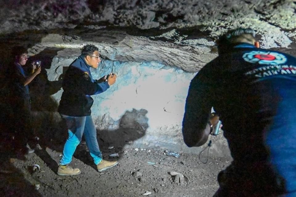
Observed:
[[[197,71],[216,57],[217,36],[241,26],[256,30],[263,48],[296,54],[292,0],[10,0],[0,7],[1,51],[19,40],[33,54],[94,43],[111,60]]]

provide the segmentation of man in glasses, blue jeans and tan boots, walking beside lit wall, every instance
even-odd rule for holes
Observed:
[[[98,81],[92,78],[90,68],[97,68],[101,62],[98,48],[88,44],[82,48],[81,55],[69,66],[63,80],[63,94],[60,100],[59,113],[68,127],[68,139],[64,145],[60,159],[58,175],[78,175],[80,170],[69,166],[82,135],[86,140],[89,153],[97,165],[98,171],[104,171],[115,166],[117,161],[102,159],[102,153],[97,142],[97,130],[92,122],[91,95],[106,91],[116,81],[116,75],[102,77]]]

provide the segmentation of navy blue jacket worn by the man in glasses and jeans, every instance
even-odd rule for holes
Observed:
[[[89,116],[93,99],[91,95],[100,94],[109,88],[108,82],[95,83],[90,68],[79,56],[66,71],[63,79],[63,94],[58,112],[68,116]]]

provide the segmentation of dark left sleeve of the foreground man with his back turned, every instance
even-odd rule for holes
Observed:
[[[184,142],[188,147],[201,146],[208,139],[208,121],[212,108],[209,80],[201,69],[189,86],[182,128]]]

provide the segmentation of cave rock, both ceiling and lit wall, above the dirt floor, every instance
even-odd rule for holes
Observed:
[[[50,103],[46,111],[55,114],[65,70],[84,44],[94,44],[103,60],[94,78],[112,67],[118,75],[112,90],[94,96],[97,128],[139,128],[146,133],[135,144],[196,152],[180,133],[184,104],[193,76],[217,57],[216,38],[252,27],[261,47],[295,55],[295,10],[292,0],[2,1],[0,58],[8,63],[11,46],[21,44],[43,61],[38,80],[51,93],[38,105]],[[213,147],[216,155],[229,154],[224,138],[216,144],[224,145]]]

